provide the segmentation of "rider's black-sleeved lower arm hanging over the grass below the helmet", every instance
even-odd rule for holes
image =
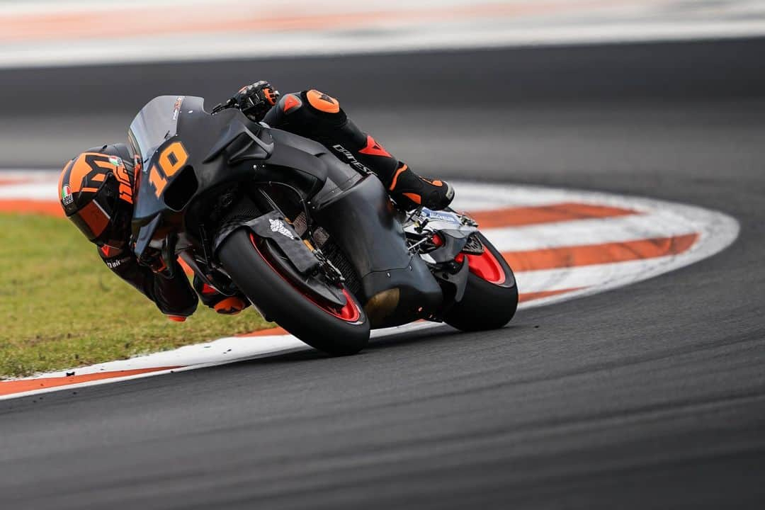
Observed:
[[[189,317],[197,310],[197,294],[191,289],[188,278],[177,261],[174,262],[174,277],[165,278],[139,265],[132,252],[115,254],[112,250],[108,255],[101,249],[98,252],[109,269],[154,301],[165,315]]]

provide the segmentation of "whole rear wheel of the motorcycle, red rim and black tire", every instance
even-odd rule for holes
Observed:
[[[462,300],[444,315],[444,322],[457,330],[496,330],[509,323],[518,308],[513,270],[483,234],[477,237],[483,253],[457,256],[457,261],[467,257],[470,272]]]

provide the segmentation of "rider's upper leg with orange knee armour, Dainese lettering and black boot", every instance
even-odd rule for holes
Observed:
[[[263,122],[319,141],[343,161],[347,161],[350,152],[382,180],[393,199],[406,209],[420,205],[443,209],[454,198],[454,190],[446,181],[419,177],[371,135],[357,128],[337,99],[317,90],[282,96],[265,114]]]

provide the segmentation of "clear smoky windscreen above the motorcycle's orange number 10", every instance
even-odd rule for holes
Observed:
[[[128,132],[133,152],[145,164],[157,148],[176,134],[184,96],[159,96],[151,99],[135,115]]]

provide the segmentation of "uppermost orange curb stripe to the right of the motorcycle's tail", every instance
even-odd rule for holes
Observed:
[[[633,214],[638,214],[638,212],[621,207],[568,202],[549,206],[503,207],[502,209],[470,213],[470,216],[478,222],[481,229],[496,229],[508,226],[557,223],[575,219],[616,218]]]

